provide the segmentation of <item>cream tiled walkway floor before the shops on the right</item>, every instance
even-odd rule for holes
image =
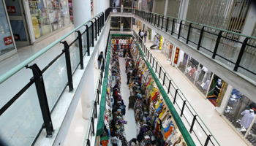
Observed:
[[[133,28],[136,28],[134,26]],[[135,31],[138,32],[138,29]],[[146,41],[146,47],[153,45],[148,39]],[[172,80],[176,83],[178,88],[181,89],[184,96],[188,99],[189,103],[195,109],[197,114],[202,118],[203,122],[209,128],[214,137],[220,145],[246,145],[246,143],[236,134],[235,131],[225,122],[225,120],[215,110],[213,104],[210,101],[203,98],[203,96],[195,90],[192,84],[184,77],[176,67],[170,65],[165,55],[160,50],[150,50],[157,60],[165,68],[166,72],[172,77]]]

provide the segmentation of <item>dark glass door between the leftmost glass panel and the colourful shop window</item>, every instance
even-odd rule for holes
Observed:
[[[30,45],[25,12],[21,0],[5,0],[7,12],[10,18],[12,34],[16,45]]]

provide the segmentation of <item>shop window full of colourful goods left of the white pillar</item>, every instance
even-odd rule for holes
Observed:
[[[67,0],[30,0],[29,9],[36,39],[69,25]]]

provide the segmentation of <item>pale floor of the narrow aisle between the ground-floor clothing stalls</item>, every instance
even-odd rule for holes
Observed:
[[[137,124],[135,121],[135,112],[133,109],[128,109],[129,104],[129,87],[127,85],[127,73],[125,73],[125,58],[119,57],[120,70],[121,70],[121,95],[124,100],[126,107],[126,114],[124,115],[124,120],[127,124],[124,125],[125,133],[127,135],[127,141],[136,138]]]

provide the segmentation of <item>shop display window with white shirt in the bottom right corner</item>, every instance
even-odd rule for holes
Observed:
[[[256,144],[256,104],[233,88],[223,115],[251,145]]]

